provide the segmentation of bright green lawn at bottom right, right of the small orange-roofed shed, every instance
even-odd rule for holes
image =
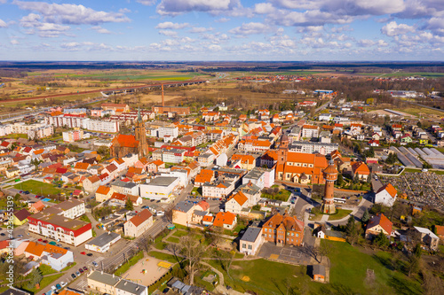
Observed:
[[[366,254],[347,243],[322,239],[330,249],[330,283],[347,290],[347,294],[423,294],[420,283],[385,267],[389,252]],[[367,269],[375,273],[375,281],[366,283]]]

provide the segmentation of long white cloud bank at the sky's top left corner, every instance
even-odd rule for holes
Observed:
[[[14,1],[20,9],[39,12],[45,22],[68,25],[99,25],[105,22],[128,22],[120,12],[98,12],[83,5],[76,4],[47,4],[44,2]]]

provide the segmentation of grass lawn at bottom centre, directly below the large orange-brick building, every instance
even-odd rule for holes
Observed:
[[[290,286],[299,290],[309,288],[315,294],[320,293],[321,283],[311,283],[306,275],[305,267],[297,267],[269,260],[234,261],[230,268],[230,278],[223,270],[218,260],[207,260],[224,274],[227,285],[236,291],[254,291],[257,294],[286,294],[285,278],[289,278]],[[242,278],[250,278],[245,282]],[[297,290],[296,289],[296,290]],[[290,294],[291,292],[289,292]]]

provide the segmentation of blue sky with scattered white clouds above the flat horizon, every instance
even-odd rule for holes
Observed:
[[[0,0],[0,60],[443,57],[443,0]]]

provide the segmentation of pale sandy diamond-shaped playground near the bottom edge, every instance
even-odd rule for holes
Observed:
[[[155,283],[156,280],[166,274],[171,266],[172,264],[167,261],[158,260],[154,257],[145,257],[133,265],[122,277],[134,283],[147,286]]]

